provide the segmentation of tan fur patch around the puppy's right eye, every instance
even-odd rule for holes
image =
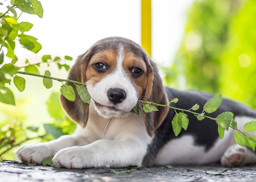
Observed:
[[[144,62],[144,60],[139,57],[138,55],[128,51],[127,49],[124,49],[124,60],[122,62],[122,67],[131,80],[132,85],[137,91],[137,97],[141,98],[143,97],[143,92],[145,91],[147,87],[147,67]],[[140,68],[143,71],[143,74],[140,75],[140,77],[134,78],[131,74],[132,68]]]

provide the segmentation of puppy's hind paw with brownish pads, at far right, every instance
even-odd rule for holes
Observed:
[[[221,157],[221,165],[227,167],[241,166],[244,164],[244,159],[247,148],[240,145],[231,145],[224,155]]]

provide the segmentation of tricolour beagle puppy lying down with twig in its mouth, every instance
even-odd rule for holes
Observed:
[[[54,156],[57,167],[122,168],[128,165],[180,165],[221,162],[225,166],[256,162],[252,150],[241,147],[234,140],[232,129],[219,139],[215,121],[198,121],[191,114],[189,126],[175,137],[172,119],[175,111],[157,107],[159,111],[144,113],[138,104],[148,100],[177,108],[203,106],[213,97],[199,91],[178,91],[163,87],[157,66],[141,46],[122,37],[109,37],[96,42],[80,55],[70,70],[70,80],[86,83],[91,97],[90,105],[78,94],[71,102],[62,95],[61,104],[69,117],[79,125],[72,135],[50,142],[23,145],[17,152],[22,162],[41,164]],[[76,90],[76,85],[67,82]],[[132,113],[132,108],[140,114]],[[256,112],[246,106],[224,99],[218,110],[235,114],[238,128],[256,118]],[[202,112],[202,107],[198,110]],[[251,134],[251,133],[250,133]]]

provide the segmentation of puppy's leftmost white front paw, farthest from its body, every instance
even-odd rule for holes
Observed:
[[[23,145],[15,153],[21,162],[42,164],[44,158],[52,156],[52,150],[44,143]]]

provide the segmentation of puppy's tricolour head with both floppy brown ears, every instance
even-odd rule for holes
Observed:
[[[122,37],[105,38],[91,46],[78,57],[68,78],[86,83],[95,110],[105,118],[128,116],[138,100],[168,104],[157,66],[141,46]],[[73,83],[67,85],[76,89]],[[89,105],[77,94],[74,102],[61,95],[61,103],[67,114],[84,128]],[[158,110],[143,113],[151,137],[168,112],[165,107]]]

